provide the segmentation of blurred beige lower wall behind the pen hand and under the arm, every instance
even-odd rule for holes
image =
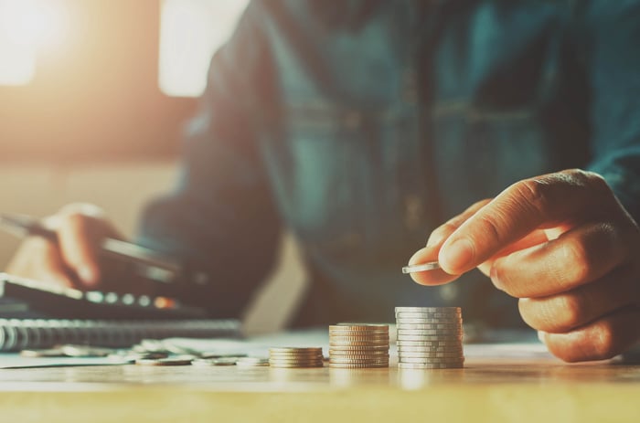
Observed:
[[[0,211],[45,217],[71,202],[104,208],[124,235],[135,231],[144,203],[173,186],[173,162],[52,166],[3,164],[0,168]],[[0,266],[5,267],[19,239],[0,232]],[[247,333],[283,327],[304,291],[304,269],[293,238],[285,236],[281,263],[257,292],[245,318]]]

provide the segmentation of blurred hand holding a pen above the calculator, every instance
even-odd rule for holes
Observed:
[[[101,209],[72,204],[47,217],[43,224],[58,234],[58,242],[28,237],[9,263],[7,273],[54,284],[94,290],[100,283],[98,252],[103,238],[120,238]]]

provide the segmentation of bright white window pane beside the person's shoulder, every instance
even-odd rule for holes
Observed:
[[[159,85],[165,94],[197,97],[209,60],[233,32],[249,0],[163,0]]]

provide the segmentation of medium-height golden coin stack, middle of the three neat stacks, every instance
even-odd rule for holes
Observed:
[[[340,323],[329,326],[329,366],[389,367],[389,325]]]

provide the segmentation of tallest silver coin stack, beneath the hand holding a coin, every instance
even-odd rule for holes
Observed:
[[[400,368],[464,366],[459,307],[396,307],[396,324]]]

